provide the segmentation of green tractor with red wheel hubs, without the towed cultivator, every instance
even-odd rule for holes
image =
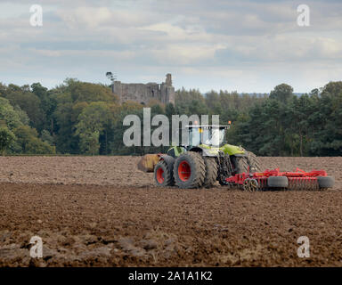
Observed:
[[[228,144],[225,132],[230,126],[186,126],[189,143],[173,146],[167,154],[145,155],[138,168],[154,172],[158,186],[179,188],[212,187],[226,184],[232,175],[258,172],[262,166],[252,152]]]

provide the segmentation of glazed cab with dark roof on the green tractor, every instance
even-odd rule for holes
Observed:
[[[219,147],[225,143],[225,131],[230,126],[215,125],[191,125],[185,126],[188,131],[188,147],[207,145],[210,147]]]

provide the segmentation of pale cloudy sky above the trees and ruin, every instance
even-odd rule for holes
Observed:
[[[30,24],[32,4],[41,27]],[[310,26],[297,23],[300,4]],[[203,93],[281,83],[306,93],[342,79],[341,31],[340,0],[0,0],[0,82],[110,84],[111,71],[161,83],[171,73],[175,88]]]

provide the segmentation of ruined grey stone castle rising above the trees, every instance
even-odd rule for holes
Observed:
[[[120,103],[134,101],[147,105],[152,100],[163,104],[173,103],[175,105],[175,87],[172,85],[172,76],[167,74],[165,82],[158,83],[121,83],[114,81],[112,91],[118,95]]]

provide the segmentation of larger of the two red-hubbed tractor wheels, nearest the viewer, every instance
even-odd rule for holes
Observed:
[[[200,153],[188,151],[175,159],[174,177],[179,188],[199,188],[205,176],[206,165]]]

